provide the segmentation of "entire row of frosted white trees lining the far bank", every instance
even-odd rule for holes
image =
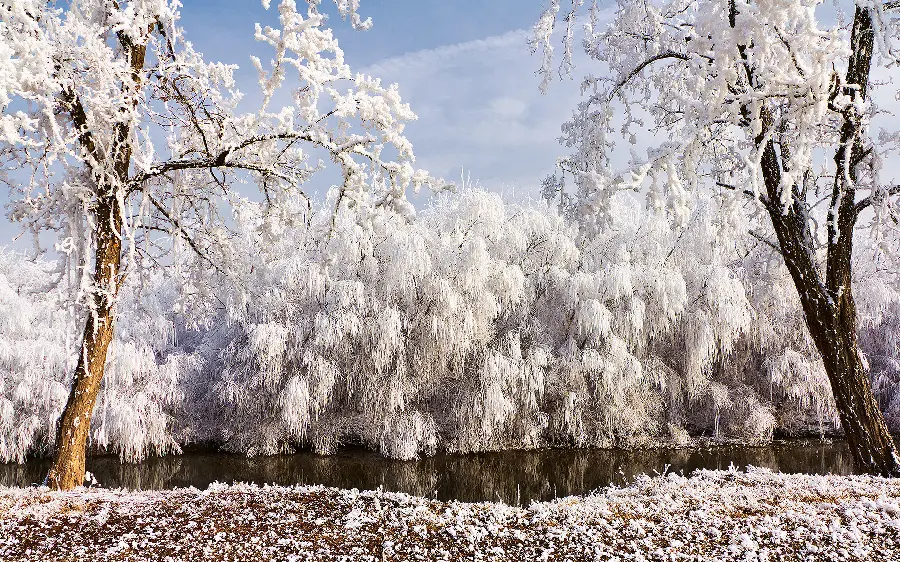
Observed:
[[[715,198],[686,225],[612,204],[578,229],[476,190],[413,217],[245,202],[227,280],[190,256],[129,279],[90,445],[128,461],[191,443],[408,459],[839,429],[783,262],[744,235],[761,223]],[[871,247],[860,337],[896,428],[900,282]],[[82,322],[66,271],[0,254],[0,461],[52,450]]]

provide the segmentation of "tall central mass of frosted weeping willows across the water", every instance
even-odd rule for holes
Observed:
[[[205,338],[223,351],[206,355],[198,439],[410,458],[833,430],[769,248],[715,243],[702,213],[675,227],[615,205],[587,238],[546,204],[478,191],[413,220],[361,205],[309,227],[248,206],[252,274]]]

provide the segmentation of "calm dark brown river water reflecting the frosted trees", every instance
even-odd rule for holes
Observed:
[[[585,494],[622,484],[638,474],[666,470],[690,474],[698,468],[734,464],[781,472],[852,474],[842,441],[777,442],[769,447],[715,447],[685,450],[540,450],[443,455],[418,461],[385,459],[344,450],[322,457],[298,453],[249,459],[222,453],[189,453],[121,464],[116,457],[88,459],[88,470],[107,488],[205,488],[212,482],[324,484],[340,488],[406,492],[442,500],[504,501],[527,504]],[[0,485],[27,486],[43,480],[49,463],[0,464]]]

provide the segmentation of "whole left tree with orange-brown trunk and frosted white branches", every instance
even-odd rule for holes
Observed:
[[[299,208],[303,222],[301,186],[324,159],[343,176],[336,208],[365,194],[406,212],[407,187],[431,181],[402,134],[415,115],[396,87],[350,72],[319,4],[283,0],[278,29],[257,25],[273,54],[253,58],[254,100],[236,89],[236,67],[206,62],[185,39],[177,0],[0,1],[2,180],[19,194],[10,217],[55,231],[80,276],[84,330],[51,487],[83,480],[126,276],[178,263],[182,249],[230,274],[236,236],[224,209],[241,184],[258,186],[264,212]],[[368,26],[358,2],[335,4]]]

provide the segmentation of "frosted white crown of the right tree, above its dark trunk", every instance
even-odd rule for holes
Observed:
[[[877,83],[890,88],[898,54],[894,3],[849,4],[851,13],[857,5],[871,9]],[[544,88],[556,72],[560,9],[560,0],[550,2],[532,38],[544,55]],[[874,209],[867,216],[878,228],[896,227],[898,203],[891,195],[900,194],[900,186],[883,173],[883,164],[896,154],[898,132],[881,129],[877,142],[868,139],[871,128],[889,124],[889,113],[871,97],[855,95],[858,85],[844,83],[853,20],[840,7],[818,0],[620,1],[606,21],[596,2],[585,10],[574,0],[562,17],[561,73],[572,70],[575,22],[585,17],[583,47],[599,65],[583,79],[585,99],[563,134],[574,148],[565,165],[587,213],[602,212],[612,194],[625,189],[646,191],[654,207],[668,207],[684,220],[692,192],[704,185],[761,205],[801,202],[810,214],[823,215],[812,235],[824,243],[840,235],[836,225],[827,231],[840,205],[830,197],[832,156],[845,116],[853,113],[867,138],[864,158],[854,163],[856,208]],[[651,142],[646,154],[632,151],[628,165],[617,166],[614,151],[621,154],[647,129],[666,140]],[[763,185],[770,139],[783,186],[771,202]]]

